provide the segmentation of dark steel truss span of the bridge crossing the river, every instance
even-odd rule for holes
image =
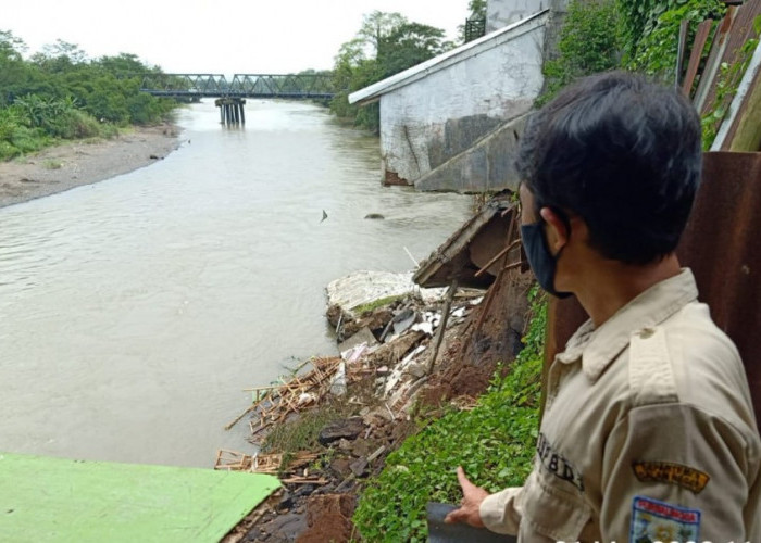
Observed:
[[[133,76],[135,77],[135,76]],[[140,74],[140,91],[170,98],[330,99],[330,74]]]

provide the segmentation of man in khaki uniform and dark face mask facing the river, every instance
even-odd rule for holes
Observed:
[[[676,91],[586,78],[534,115],[517,168],[539,285],[590,319],[551,364],[534,469],[489,495],[458,468],[448,522],[523,542],[761,542],[761,442],[743,364],[674,253],[701,168]]]

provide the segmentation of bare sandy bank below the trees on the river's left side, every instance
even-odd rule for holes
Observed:
[[[179,147],[179,129],[136,128],[110,140],[73,141],[0,162],[0,207],[126,174]]]

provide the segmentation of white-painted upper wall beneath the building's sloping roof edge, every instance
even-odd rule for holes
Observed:
[[[478,115],[508,121],[527,112],[541,89],[544,34],[544,24],[535,25],[497,47],[382,94],[385,173],[396,173],[411,184],[431,172],[431,148],[442,144],[448,121]]]

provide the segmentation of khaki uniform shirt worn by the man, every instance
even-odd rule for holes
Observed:
[[[488,496],[519,541],[761,542],[761,443],[732,341],[689,269],[553,361],[534,469]]]

